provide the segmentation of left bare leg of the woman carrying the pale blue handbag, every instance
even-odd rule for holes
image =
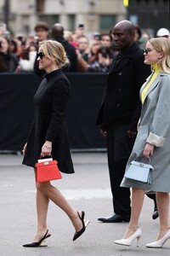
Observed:
[[[131,218],[123,239],[132,236],[138,229],[139,216],[144,203],[144,190],[132,188],[132,201],[131,201]]]

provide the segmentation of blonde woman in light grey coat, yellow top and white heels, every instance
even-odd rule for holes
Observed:
[[[123,178],[121,186],[132,187],[132,212],[125,235],[115,243],[130,246],[135,239],[139,241],[142,234],[139,228],[139,215],[144,193],[145,190],[152,190],[156,191],[160,230],[156,241],[147,244],[146,247],[162,247],[170,239],[170,40],[151,38],[144,50],[144,63],[151,65],[153,72],[140,90],[143,108],[138,136],[127,168],[132,160],[142,155],[142,158],[150,157],[154,171],[151,184]]]

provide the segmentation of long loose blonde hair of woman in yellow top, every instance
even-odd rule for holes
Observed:
[[[163,53],[162,58],[157,62],[161,72],[170,73],[170,39],[151,38],[148,42],[156,51]]]

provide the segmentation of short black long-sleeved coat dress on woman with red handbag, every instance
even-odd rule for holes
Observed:
[[[56,70],[46,74],[34,96],[35,117],[27,140],[23,164],[35,166],[46,141],[52,142],[52,156],[59,170],[72,173],[68,132],[65,125],[65,108],[69,99],[70,84],[65,75]]]

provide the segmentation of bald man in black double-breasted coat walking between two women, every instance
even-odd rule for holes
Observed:
[[[113,212],[105,223],[128,222],[131,214],[130,189],[120,187],[122,177],[137,134],[141,103],[139,90],[150,75],[144,65],[144,51],[134,42],[135,28],[129,20],[122,20],[112,29],[118,51],[108,74],[105,94],[96,121],[107,137],[108,166],[113,196]],[[150,195],[150,198],[155,195]],[[155,201],[156,203],[156,201]],[[156,214],[156,215],[154,215]],[[155,211],[152,218],[157,218]]]

